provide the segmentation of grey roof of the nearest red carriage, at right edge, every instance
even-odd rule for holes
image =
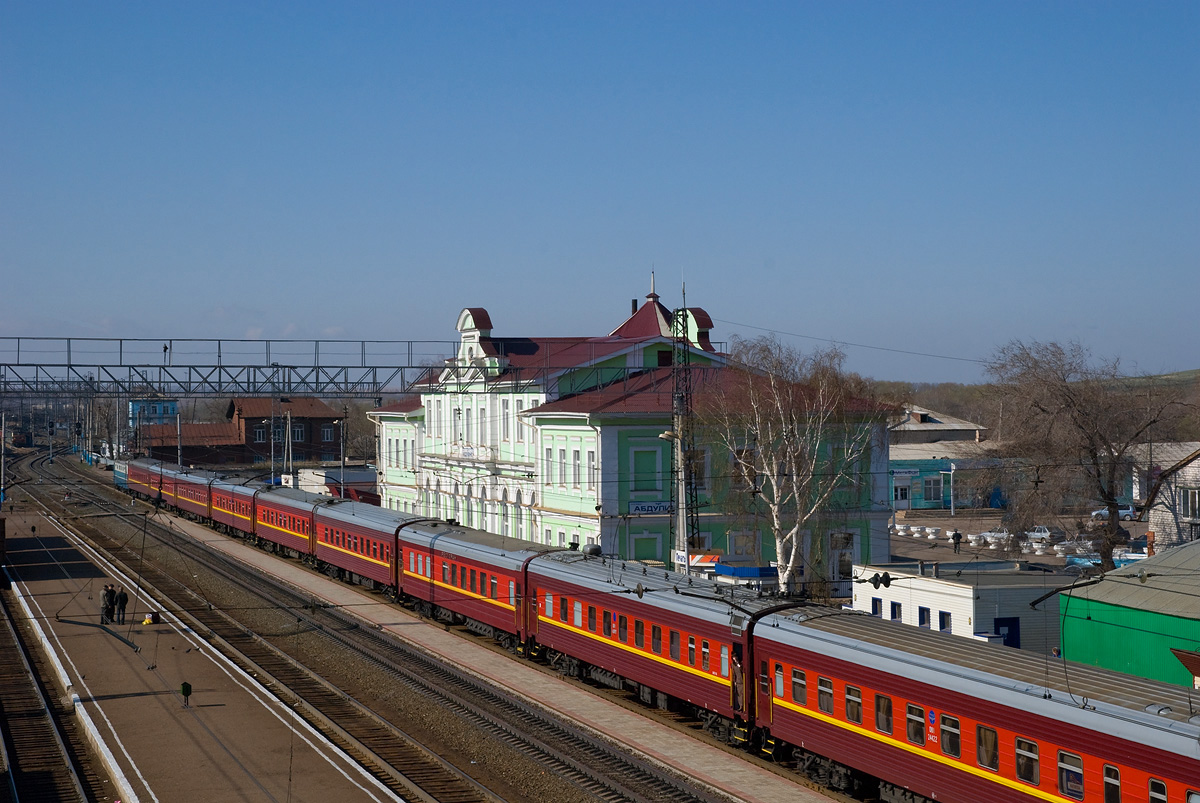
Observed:
[[[817,649],[878,671],[935,683],[1051,719],[1104,729],[1145,743],[1183,737],[1200,759],[1200,701],[1188,690],[1024,649],[880,619],[860,611],[812,607],[778,617],[757,637]],[[986,687],[986,688],[984,688]],[[1097,714],[1096,712],[1099,712]],[[1156,735],[1156,736],[1147,736]]]

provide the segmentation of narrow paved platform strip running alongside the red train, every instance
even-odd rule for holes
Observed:
[[[630,750],[661,765],[673,767],[686,777],[720,789],[736,801],[828,803],[830,799],[803,784],[758,767],[740,755],[706,744],[688,733],[654,723],[635,711],[604,700],[564,678],[547,675],[521,660],[473,643],[469,639],[446,633],[440,625],[422,621],[396,605],[377,601],[377,598],[360,593],[353,586],[319,575],[293,561],[277,558],[202,525],[184,519],[174,521],[181,531],[214,550],[254,565],[264,574],[302,588],[308,594],[340,605],[367,624],[377,625],[398,639],[419,645],[468,672],[536,701],[545,708],[571,719],[583,720],[608,739],[625,744]]]

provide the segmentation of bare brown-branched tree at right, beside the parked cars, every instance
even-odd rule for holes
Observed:
[[[1010,459],[1006,486],[1019,527],[1056,517],[1072,501],[1100,504],[1102,568],[1121,543],[1118,499],[1130,448],[1184,412],[1177,384],[1128,377],[1118,360],[1097,361],[1079,343],[1013,341],[988,362],[1003,401],[1000,449]]]

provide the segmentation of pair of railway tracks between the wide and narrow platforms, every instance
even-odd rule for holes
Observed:
[[[41,472],[43,480],[60,479],[58,472],[61,469],[58,466],[50,469],[35,461],[31,468]],[[43,496],[52,504],[53,496],[56,495]],[[184,577],[176,577],[143,562],[142,553],[131,549],[128,533],[124,538],[113,538],[103,532],[104,528],[96,527],[95,522],[137,519],[139,528],[144,527],[146,534],[161,539],[169,544],[172,551],[186,556],[188,565],[204,565],[223,582],[256,595],[262,605],[286,611],[294,617],[298,628],[323,637],[325,649],[365,657],[378,672],[389,678],[390,687],[420,695],[433,709],[445,715],[454,714],[476,729],[482,729],[497,743],[532,762],[532,766],[570,780],[592,799],[613,803],[727,799],[631,756],[620,745],[596,738],[586,727],[563,721],[545,709],[487,687],[474,676],[386,634],[365,628],[343,611],[325,607],[311,597],[271,582],[262,574],[191,538],[152,523],[142,515],[131,515],[127,502],[114,504],[107,492],[76,485],[72,496],[73,505],[86,504],[92,508],[91,513],[78,517],[74,525],[78,529],[86,531],[85,534],[96,549],[104,550],[131,576],[139,576],[143,588],[152,589],[151,593],[163,600],[164,607],[169,607],[214,647],[258,677],[272,694],[400,796],[439,803],[503,799],[454,762],[424,749],[418,739],[354,700],[340,688],[342,683],[335,684],[320,678],[230,613],[210,604],[200,588],[210,585],[209,581],[197,583],[197,579],[188,571],[181,573]],[[168,599],[178,601],[168,604]]]

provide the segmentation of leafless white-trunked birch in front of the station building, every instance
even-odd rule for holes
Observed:
[[[808,591],[820,597],[832,528],[870,504],[870,454],[883,444],[886,408],[842,371],[836,349],[805,354],[773,337],[734,338],[728,366],[701,383],[695,403],[714,444],[714,491],[734,520],[766,523],[780,586],[792,588],[805,567]]]

